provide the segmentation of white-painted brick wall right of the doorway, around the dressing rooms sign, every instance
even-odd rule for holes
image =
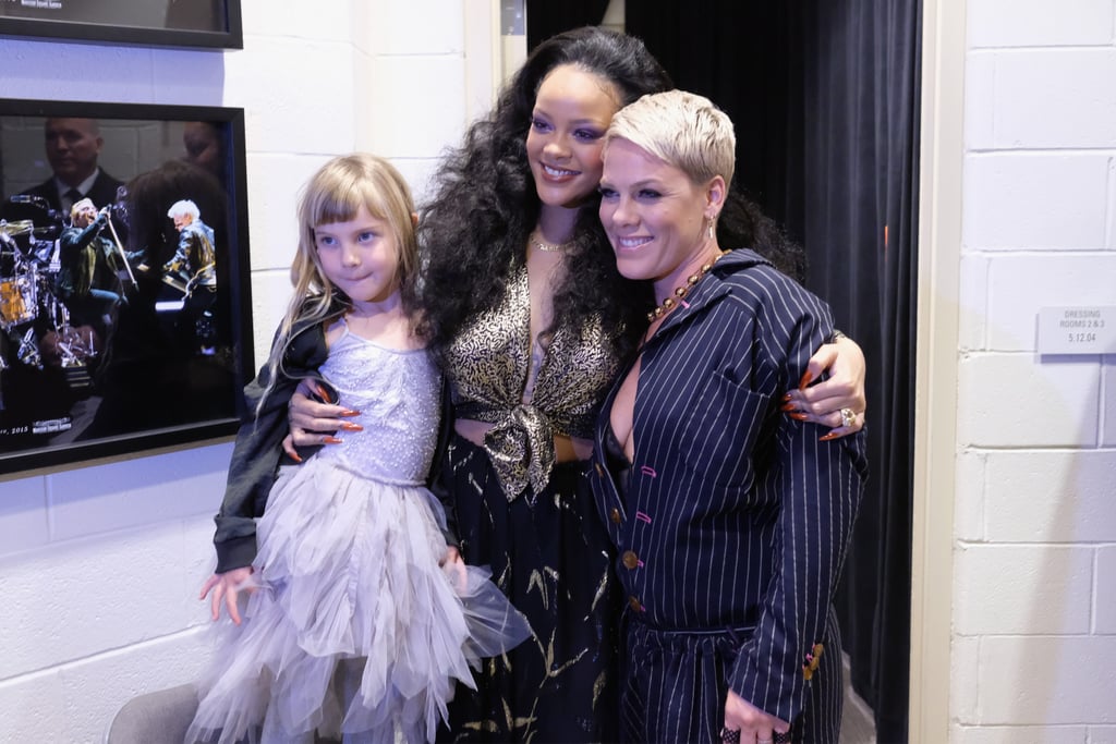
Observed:
[[[969,0],[951,740],[1116,741],[1116,2]]]

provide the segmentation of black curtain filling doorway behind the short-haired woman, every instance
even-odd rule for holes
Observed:
[[[907,738],[921,0],[638,0],[627,31],[733,119],[738,187],[868,359],[872,476],[838,608],[877,741]]]

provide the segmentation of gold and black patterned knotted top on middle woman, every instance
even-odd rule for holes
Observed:
[[[580,338],[559,328],[525,394],[531,371],[530,315],[527,268],[521,267],[503,300],[468,321],[446,352],[455,415],[493,424],[484,450],[508,501],[528,485],[535,493],[546,487],[555,434],[593,436],[600,400],[618,367],[599,319]]]

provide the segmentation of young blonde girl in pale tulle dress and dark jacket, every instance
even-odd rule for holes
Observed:
[[[469,664],[528,628],[448,545],[425,487],[442,379],[413,332],[406,183],[373,155],[337,157],[310,178],[298,218],[295,299],[246,388],[254,416],[217,515],[201,597],[231,622],[187,741],[432,741],[454,680],[471,685]],[[277,476],[304,379],[347,407],[337,436],[349,446],[304,452]]]

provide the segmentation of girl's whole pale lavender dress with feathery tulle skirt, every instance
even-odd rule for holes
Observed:
[[[444,512],[424,487],[440,377],[425,351],[346,329],[323,375],[360,412],[276,482],[241,626],[219,647],[187,741],[433,741],[454,680],[527,638],[478,567],[442,568]]]

